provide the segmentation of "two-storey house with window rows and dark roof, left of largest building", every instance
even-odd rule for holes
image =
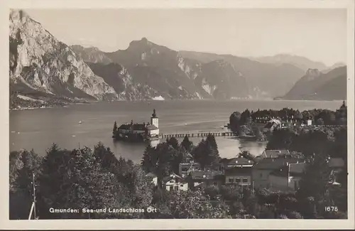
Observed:
[[[226,184],[251,185],[251,169],[255,163],[249,159],[238,157],[230,159],[224,166]]]

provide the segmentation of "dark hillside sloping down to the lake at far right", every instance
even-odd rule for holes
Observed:
[[[346,66],[327,73],[317,69],[307,70],[285,100],[346,100]]]

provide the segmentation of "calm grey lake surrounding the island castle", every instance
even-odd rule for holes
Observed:
[[[266,101],[266,100],[171,100],[136,102],[97,102],[72,104],[52,109],[28,109],[10,111],[10,151],[27,149],[41,156],[53,143],[62,149],[80,146],[92,148],[99,141],[110,146],[116,156],[138,162],[145,144],[129,144],[112,141],[112,128],[126,122],[150,122],[153,109],[159,117],[160,133],[222,131],[234,111],[245,109],[338,109],[340,101]],[[82,122],[79,124],[79,122]],[[201,138],[190,138],[197,144]],[[239,141],[216,137],[219,154],[235,157],[240,147],[253,155],[261,154],[265,142]],[[182,140],[179,139],[180,141]]]

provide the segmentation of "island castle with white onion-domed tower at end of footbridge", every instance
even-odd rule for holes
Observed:
[[[131,123],[121,124],[114,131],[114,139],[129,140],[129,141],[149,141],[159,139],[159,118],[156,115],[155,109],[151,117],[151,122],[143,124]]]

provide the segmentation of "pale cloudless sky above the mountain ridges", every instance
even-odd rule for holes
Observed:
[[[345,9],[26,9],[67,45],[124,50],[143,37],[173,50],[346,63]]]

